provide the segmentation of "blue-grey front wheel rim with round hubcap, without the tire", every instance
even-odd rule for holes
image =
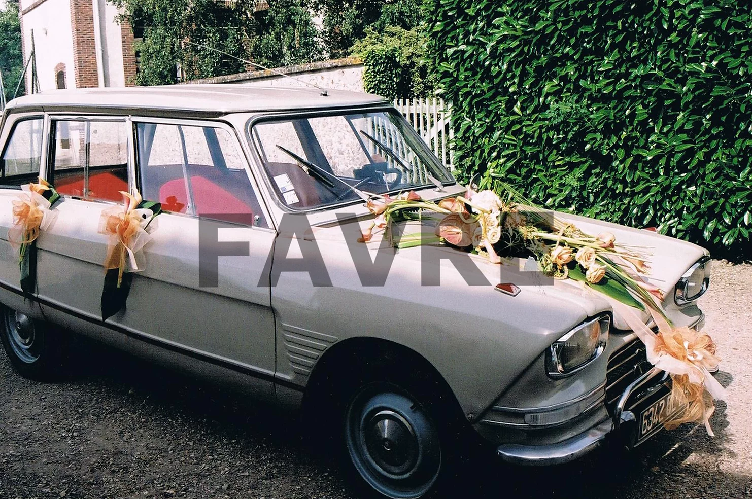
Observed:
[[[424,497],[444,471],[440,428],[426,407],[396,387],[359,389],[344,426],[357,473],[383,497]]]

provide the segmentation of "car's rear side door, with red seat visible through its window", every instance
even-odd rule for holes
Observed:
[[[99,216],[129,189],[130,123],[126,116],[50,116],[49,130],[45,177],[62,199],[37,242],[38,296],[68,327],[96,332],[108,243]]]

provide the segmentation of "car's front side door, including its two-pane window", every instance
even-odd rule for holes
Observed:
[[[134,129],[138,185],[165,212],[125,309],[109,320],[273,380],[274,314],[258,284],[276,232],[237,135],[192,120],[134,119]]]

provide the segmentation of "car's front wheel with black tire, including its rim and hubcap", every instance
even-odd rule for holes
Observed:
[[[388,353],[329,377],[339,383],[326,412],[340,422],[334,431],[358,497],[417,499],[450,486],[465,422],[437,377]]]

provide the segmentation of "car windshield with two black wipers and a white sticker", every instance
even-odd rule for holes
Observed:
[[[271,185],[293,210],[453,181],[395,111],[263,120],[250,136]]]

